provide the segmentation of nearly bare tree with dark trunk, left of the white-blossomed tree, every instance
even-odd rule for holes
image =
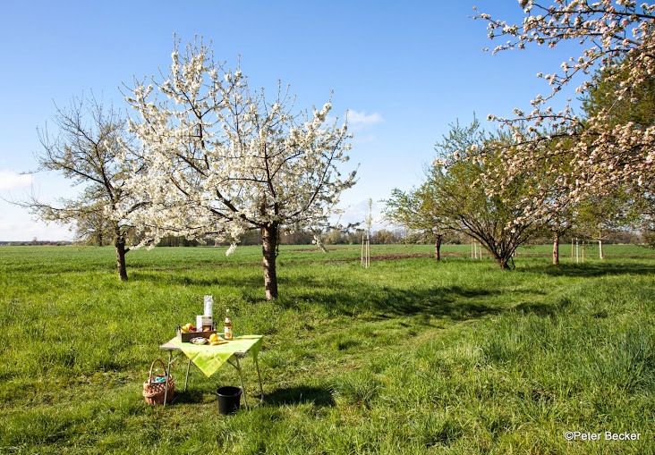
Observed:
[[[38,131],[43,146],[36,155],[38,171],[61,173],[73,186],[81,186],[81,193],[54,203],[31,195],[14,204],[46,222],[76,223],[78,235],[111,237],[118,276],[127,281],[125,254],[130,251],[127,237],[132,226],[125,216],[140,209],[140,201],[133,198],[126,179],[143,167],[118,156],[129,156],[132,136],[125,131],[123,117],[95,97],[73,97],[70,107],[57,107],[54,124],[54,135],[47,128]]]

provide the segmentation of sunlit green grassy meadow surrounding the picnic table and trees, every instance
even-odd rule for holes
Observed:
[[[111,248],[0,248],[0,453],[655,453],[655,251],[534,247],[507,272],[470,246],[374,245],[369,269],[330,249],[282,247],[268,302],[258,247],[135,250],[129,282]],[[178,361],[150,407],[158,346],[205,294],[265,336],[264,403],[219,415],[234,368],[182,392]]]

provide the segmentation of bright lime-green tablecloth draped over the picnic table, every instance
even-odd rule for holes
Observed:
[[[171,344],[179,347],[186,357],[191,358],[191,362],[200,369],[207,377],[217,372],[228,358],[231,358],[234,352],[252,353],[257,358],[261,350],[261,335],[242,335],[235,337],[234,340],[218,346],[209,346],[207,344],[183,343],[177,337],[169,341]]]

